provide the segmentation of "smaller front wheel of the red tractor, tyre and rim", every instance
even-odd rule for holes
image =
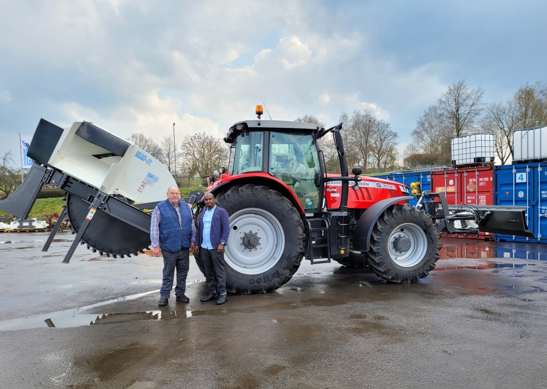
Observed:
[[[388,208],[376,220],[367,257],[376,275],[391,282],[417,282],[440,258],[440,234],[430,216],[408,204]]]

